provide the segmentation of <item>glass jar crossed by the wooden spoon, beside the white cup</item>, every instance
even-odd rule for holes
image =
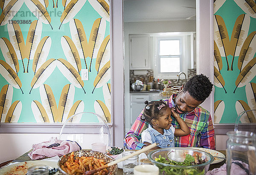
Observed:
[[[131,153],[135,152],[133,151],[125,151],[122,153],[122,156],[129,155]],[[123,161],[123,174],[124,175],[133,175],[134,173],[134,166],[137,166],[139,164],[139,155],[134,155],[131,158],[128,158]]]

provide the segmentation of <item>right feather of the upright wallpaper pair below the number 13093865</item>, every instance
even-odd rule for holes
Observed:
[[[27,73],[29,73],[29,60],[33,60],[36,49],[41,40],[43,24],[39,20],[34,20],[29,27],[29,32],[26,39],[26,58],[28,59]]]

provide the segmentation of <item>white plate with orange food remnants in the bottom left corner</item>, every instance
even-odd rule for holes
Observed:
[[[3,168],[0,169],[0,175],[9,175],[11,173],[17,174],[17,175],[26,175],[26,173],[28,172],[28,168],[30,166],[34,166],[34,165],[47,165],[47,166],[49,166],[50,169],[58,168],[58,164],[55,161],[44,161],[44,160],[26,161],[26,163],[19,162],[16,164],[4,166]],[[23,166],[23,167],[21,167],[21,166]],[[55,175],[58,175],[58,172],[55,173]]]

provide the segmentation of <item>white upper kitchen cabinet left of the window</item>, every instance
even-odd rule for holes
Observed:
[[[131,35],[130,44],[130,69],[151,69],[150,37],[148,35]]]

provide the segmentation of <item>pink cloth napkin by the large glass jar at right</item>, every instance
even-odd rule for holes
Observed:
[[[249,171],[249,166],[248,164],[245,164],[242,161],[234,161],[235,163],[231,164],[231,169],[230,169],[230,175],[248,175],[248,173],[245,171],[245,169],[247,171]],[[240,164],[240,166],[243,166],[243,168],[241,168],[238,164]],[[215,168],[212,169],[212,171],[207,171],[206,175],[226,175],[227,174],[227,170],[226,170],[226,164],[222,165],[219,168]]]

